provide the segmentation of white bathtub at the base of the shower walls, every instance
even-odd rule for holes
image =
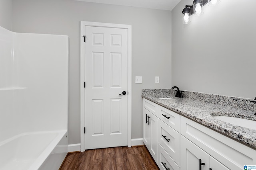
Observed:
[[[67,152],[66,130],[22,133],[0,143],[0,170],[58,170]]]

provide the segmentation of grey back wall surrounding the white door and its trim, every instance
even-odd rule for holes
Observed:
[[[142,138],[142,88],[170,88],[171,12],[73,0],[12,0],[12,30],[68,35],[69,144],[80,143],[80,21],[132,25],[132,139]],[[143,83],[135,84],[135,76]],[[160,76],[160,83],[154,77]]]

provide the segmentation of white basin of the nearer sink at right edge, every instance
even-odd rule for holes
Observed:
[[[230,117],[230,116],[213,116],[215,119],[224,121],[226,123],[230,123],[233,125],[238,125],[241,127],[247,127],[250,129],[255,129],[256,130],[256,121],[254,120],[249,120],[249,119],[243,119],[243,118],[239,118],[239,117]]]

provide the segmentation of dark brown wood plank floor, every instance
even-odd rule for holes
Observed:
[[[68,153],[59,170],[159,170],[145,146]]]

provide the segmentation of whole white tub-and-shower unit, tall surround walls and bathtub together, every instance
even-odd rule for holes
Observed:
[[[58,169],[67,129],[68,36],[0,27],[0,170]]]

